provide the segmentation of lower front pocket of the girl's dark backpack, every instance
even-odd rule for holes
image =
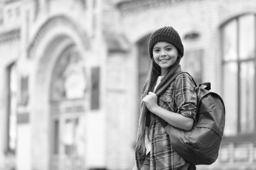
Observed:
[[[168,127],[168,126],[166,126]],[[210,165],[218,158],[221,138],[211,128],[195,127],[191,131],[169,127],[174,150],[194,165]]]

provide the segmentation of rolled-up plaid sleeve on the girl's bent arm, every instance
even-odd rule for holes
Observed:
[[[177,112],[187,118],[193,118],[195,122],[197,94],[195,93],[195,85],[192,78],[187,73],[179,75],[175,80],[174,90]]]

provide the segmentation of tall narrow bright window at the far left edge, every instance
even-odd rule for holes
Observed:
[[[17,137],[17,71],[15,63],[7,67],[7,153],[15,154]]]

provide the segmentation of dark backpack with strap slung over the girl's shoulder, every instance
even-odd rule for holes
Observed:
[[[189,75],[189,73],[187,74]],[[177,75],[169,82],[174,81]],[[193,82],[195,83],[194,80]],[[168,85],[165,85],[162,90],[166,86]],[[225,126],[224,102],[220,95],[209,90],[210,83],[203,83],[195,87],[197,93],[197,122],[191,130],[175,128],[159,118],[164,130],[169,134],[170,144],[172,144],[174,150],[193,165],[214,163],[218,158],[220,142],[223,137]],[[160,93],[156,95],[159,96]]]

